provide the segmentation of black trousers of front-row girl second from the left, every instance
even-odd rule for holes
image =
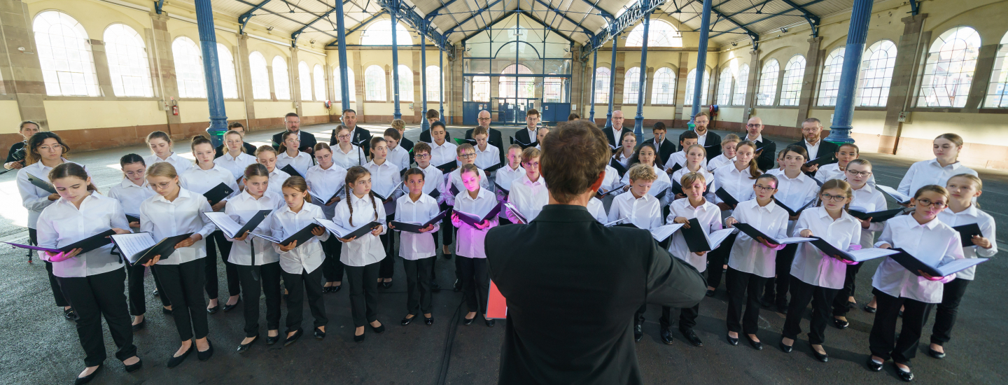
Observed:
[[[161,295],[171,301],[171,316],[181,341],[207,337],[207,299],[203,297],[205,284],[204,258],[177,265],[154,265],[161,279]]]

